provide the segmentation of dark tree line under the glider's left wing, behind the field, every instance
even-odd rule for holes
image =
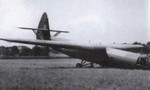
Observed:
[[[0,46],[0,56],[49,56],[50,51],[53,50],[45,46]]]

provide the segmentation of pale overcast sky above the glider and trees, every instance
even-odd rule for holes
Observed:
[[[149,0],[0,0],[0,37],[35,39],[32,31],[47,12],[51,29],[70,31],[59,37],[91,43],[147,42]],[[12,45],[0,41],[0,45]]]

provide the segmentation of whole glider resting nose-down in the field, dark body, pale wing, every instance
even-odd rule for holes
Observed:
[[[150,58],[147,54],[133,52],[134,50],[142,50],[142,45],[132,44],[82,44],[65,41],[53,41],[50,32],[56,32],[54,37],[60,33],[69,33],[68,31],[51,30],[49,20],[46,13],[41,17],[38,28],[19,27],[21,29],[33,30],[37,40],[23,39],[4,39],[0,40],[24,44],[42,45],[51,47],[73,58],[81,59],[81,63],[77,63],[76,67],[84,67],[90,62],[105,67],[114,68],[150,68]]]

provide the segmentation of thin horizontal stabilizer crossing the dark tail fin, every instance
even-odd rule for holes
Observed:
[[[41,31],[51,31],[51,32],[59,32],[59,33],[69,33],[69,31],[61,31],[61,30],[49,30],[44,28],[26,28],[26,27],[18,27],[20,29],[26,29],[26,30],[41,30]]]

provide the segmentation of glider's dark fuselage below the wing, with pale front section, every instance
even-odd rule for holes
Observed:
[[[114,59],[113,56],[112,57],[108,56],[106,49],[101,50],[82,50],[82,49],[66,49],[66,48],[54,48],[54,49],[74,58],[82,59],[92,63],[97,63],[106,67],[115,67],[115,68],[137,68],[138,59],[141,57],[140,54],[133,53],[132,55],[132,53],[122,50],[121,50],[122,52],[112,53],[113,56],[115,57]],[[123,54],[125,56],[121,56]],[[129,58],[127,55],[130,55]],[[133,57],[133,59],[131,57]],[[140,67],[149,69],[150,64],[149,66],[141,65]]]

